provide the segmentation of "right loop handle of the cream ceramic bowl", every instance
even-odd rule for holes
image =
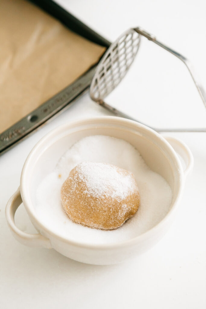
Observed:
[[[166,141],[170,143],[174,151],[176,151],[181,158],[184,160],[186,168],[184,169],[184,175],[185,177],[188,175],[188,173],[191,171],[194,163],[194,158],[191,153],[191,150],[188,148],[188,146],[183,143],[180,139],[178,138],[173,138],[170,136],[164,136]]]

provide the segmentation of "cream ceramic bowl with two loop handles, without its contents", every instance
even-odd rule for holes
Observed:
[[[80,138],[89,135],[109,135],[128,141],[141,153],[146,164],[169,183],[173,200],[166,217],[149,231],[124,242],[107,245],[86,245],[56,235],[42,225],[35,213],[36,188],[54,169],[58,159]],[[185,162],[185,170],[173,148]],[[183,192],[185,176],[193,165],[191,151],[181,141],[164,138],[135,121],[118,117],[98,117],[63,125],[42,138],[24,163],[20,188],[6,205],[6,218],[15,238],[27,246],[54,248],[61,254],[80,262],[97,265],[115,264],[144,252],[153,246],[169,228]],[[15,211],[23,201],[27,213],[39,234],[27,234],[15,225]]]

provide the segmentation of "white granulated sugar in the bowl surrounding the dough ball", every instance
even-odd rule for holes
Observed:
[[[135,176],[140,192],[140,206],[137,213],[116,230],[97,230],[76,224],[69,219],[61,205],[62,184],[77,164],[86,161],[113,164],[131,171]],[[91,190],[101,192],[105,189],[101,188],[98,179],[94,184],[95,171],[88,172],[85,166],[84,172],[89,173],[87,176]],[[112,183],[116,185],[114,181]],[[123,187],[116,192],[122,191],[124,194]],[[149,169],[132,145],[121,139],[94,135],[74,144],[61,157],[55,170],[43,179],[37,189],[35,210],[40,222],[62,237],[87,244],[107,244],[131,239],[151,229],[165,217],[171,201],[169,184]]]

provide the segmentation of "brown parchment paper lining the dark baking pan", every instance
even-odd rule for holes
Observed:
[[[0,133],[74,82],[105,48],[24,0],[0,0]]]

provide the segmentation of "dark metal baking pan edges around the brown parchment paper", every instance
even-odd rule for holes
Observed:
[[[85,37],[87,40],[106,48],[111,44],[52,0],[31,0],[30,2],[36,4],[42,10],[58,19],[67,28]],[[12,146],[15,146],[17,142],[26,138],[45,122],[51,120],[53,116],[69,107],[75,99],[88,90],[95,68],[96,65],[86,71],[86,73],[80,76],[74,83],[70,84],[51,99],[41,104],[40,107],[36,108],[20,121],[2,132],[0,134],[0,155],[9,150]]]

